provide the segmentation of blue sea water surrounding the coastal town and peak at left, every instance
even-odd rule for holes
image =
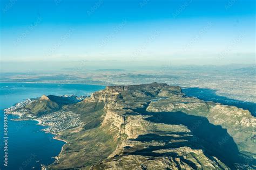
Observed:
[[[50,83],[0,83],[0,169],[39,169],[41,164],[51,164],[59,154],[63,141],[55,140],[53,134],[41,131],[44,127],[36,121],[11,121],[17,116],[8,115],[8,167],[4,160],[3,109],[26,98],[45,95],[91,94],[104,86],[86,84]]]

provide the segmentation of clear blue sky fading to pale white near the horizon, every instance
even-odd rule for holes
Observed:
[[[8,62],[255,63],[253,0],[0,0]]]

